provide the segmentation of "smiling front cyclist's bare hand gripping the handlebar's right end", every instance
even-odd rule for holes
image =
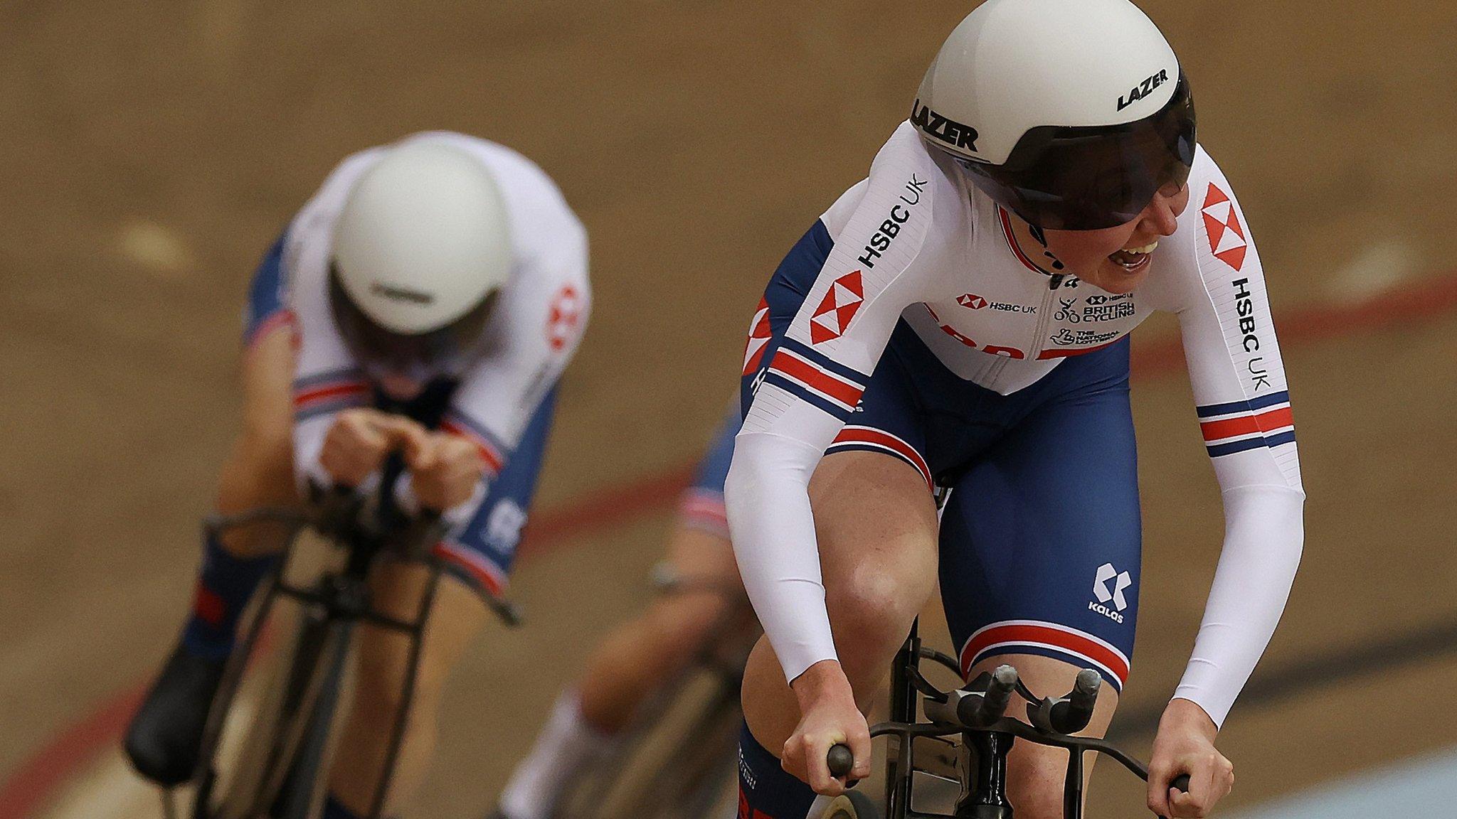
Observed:
[[[1208,816],[1234,787],[1234,765],[1215,751],[1220,733],[1203,708],[1173,700],[1158,721],[1154,758],[1148,764],[1148,809],[1170,819]],[[1179,774],[1189,774],[1189,793],[1170,790]]]

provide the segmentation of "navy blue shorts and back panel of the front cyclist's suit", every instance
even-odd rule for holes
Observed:
[[[775,271],[762,367],[830,246],[816,223]],[[828,449],[890,455],[950,490],[940,579],[963,670],[1045,654],[1126,679],[1142,549],[1128,356],[1125,338],[998,395],[947,370],[902,322]],[[762,367],[743,379],[746,408]]]

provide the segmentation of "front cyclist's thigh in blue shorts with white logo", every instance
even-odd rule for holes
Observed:
[[[1034,654],[1122,689],[1139,552],[1126,379],[1033,410],[973,462],[941,517],[941,596],[963,670]]]

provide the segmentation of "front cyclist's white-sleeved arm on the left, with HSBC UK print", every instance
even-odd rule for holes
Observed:
[[[778,331],[788,321],[788,329],[756,377],[724,485],[739,571],[788,681],[820,660],[836,659],[810,510],[810,475],[860,401],[902,309],[921,300],[912,262],[931,223],[934,185],[924,184],[930,160],[918,146],[919,160],[914,150],[890,147],[873,165],[864,197],[793,318],[775,315],[771,305],[771,325]],[[924,189],[908,191],[912,178]],[[919,194],[902,200],[911,191]],[[899,208],[896,216],[905,222],[867,265],[861,259],[865,246],[892,208]],[[845,277],[852,278],[847,283]],[[848,326],[839,326],[842,335],[813,328],[812,319],[826,299],[848,305],[857,287],[864,300]]]

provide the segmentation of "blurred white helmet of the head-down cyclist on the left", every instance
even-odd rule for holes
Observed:
[[[441,361],[479,340],[511,271],[506,204],[485,165],[439,140],[386,149],[334,226],[329,300],[358,354]]]

